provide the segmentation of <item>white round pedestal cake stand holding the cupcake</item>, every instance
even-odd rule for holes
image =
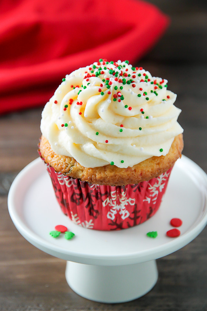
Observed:
[[[16,228],[42,251],[67,260],[65,276],[79,295],[104,303],[120,303],[145,295],[155,285],[155,259],[193,240],[207,223],[207,176],[182,156],[173,168],[159,211],[145,223],[120,231],[85,229],[60,210],[42,160],[27,165],[11,185],[8,207]],[[172,218],[181,218],[181,235],[169,238]],[[49,232],[65,225],[74,232],[54,239]],[[149,231],[157,231],[152,239]]]

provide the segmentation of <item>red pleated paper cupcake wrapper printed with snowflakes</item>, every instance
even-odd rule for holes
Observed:
[[[72,179],[49,164],[45,166],[63,213],[75,224],[95,230],[126,229],[152,217],[172,170],[135,185],[105,186]]]

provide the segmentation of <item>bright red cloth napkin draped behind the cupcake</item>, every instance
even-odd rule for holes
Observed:
[[[169,18],[135,0],[2,0],[0,114],[44,105],[62,77],[99,58],[140,58]]]

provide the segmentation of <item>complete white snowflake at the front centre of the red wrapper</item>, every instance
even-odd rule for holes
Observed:
[[[115,215],[117,214],[117,212],[119,212],[119,215],[121,215],[121,218],[124,220],[126,219],[130,213],[129,211],[126,209],[126,205],[134,205],[135,203],[135,199],[132,198],[126,198],[126,192],[122,191],[121,195],[117,195],[116,191],[111,191],[110,192],[111,198],[106,198],[105,201],[103,201],[103,207],[105,207],[106,205],[109,204],[109,206],[112,206],[112,208],[110,209],[110,211],[107,213],[107,218],[114,220],[115,219]],[[117,205],[116,202],[119,202],[119,205]]]

